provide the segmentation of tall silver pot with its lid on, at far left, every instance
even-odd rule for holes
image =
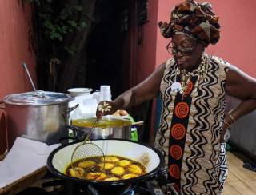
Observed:
[[[58,143],[67,135],[66,125],[71,110],[69,94],[32,91],[10,94],[3,99],[7,117],[8,142],[16,137],[26,137],[47,144]],[[76,106],[77,107],[77,106]]]

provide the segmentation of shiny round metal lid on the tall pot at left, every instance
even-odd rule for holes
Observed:
[[[50,91],[30,91],[22,94],[7,95],[3,101],[10,105],[55,105],[72,101],[69,94]]]

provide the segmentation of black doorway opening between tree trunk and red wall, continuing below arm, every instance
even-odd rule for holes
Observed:
[[[136,49],[138,40],[137,3],[135,0],[102,0],[95,10],[95,22],[86,46],[86,86],[99,90],[110,85],[112,99],[136,85]],[[139,140],[150,140],[152,102],[129,109],[135,121],[144,121]]]

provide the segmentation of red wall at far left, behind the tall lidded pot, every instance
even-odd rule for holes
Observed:
[[[29,42],[30,7],[19,0],[0,1],[0,101],[7,94],[32,89],[22,68],[26,62],[35,78],[35,58]],[[5,118],[0,112],[0,154],[6,149]]]

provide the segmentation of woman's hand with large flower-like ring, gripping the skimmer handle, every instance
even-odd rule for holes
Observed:
[[[101,118],[102,116],[111,115],[117,111],[113,101],[100,101],[96,110],[96,117]]]

